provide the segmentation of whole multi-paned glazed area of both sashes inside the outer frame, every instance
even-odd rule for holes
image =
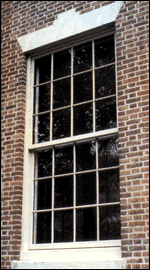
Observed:
[[[120,239],[114,36],[34,66],[32,243]]]

